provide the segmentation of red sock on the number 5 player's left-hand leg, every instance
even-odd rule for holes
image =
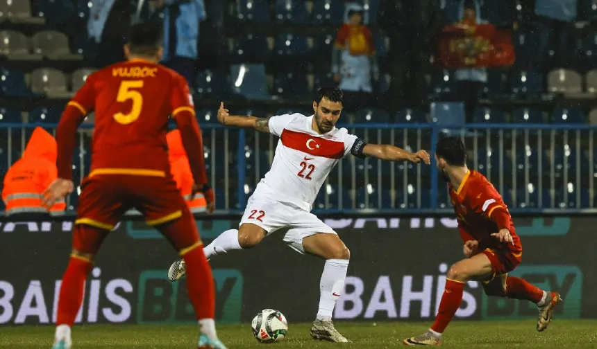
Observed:
[[[92,267],[93,264],[87,260],[71,257],[60,285],[56,325],[69,325],[72,327],[74,324],[83,302],[85,279]]]

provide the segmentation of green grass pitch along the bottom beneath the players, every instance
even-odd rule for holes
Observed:
[[[261,344],[248,323],[218,325],[228,348],[394,348],[406,337],[421,334],[429,323],[348,323],[337,329],[352,343],[327,343],[309,337],[310,324],[290,323],[283,341]],[[0,328],[0,348],[51,347],[51,326]],[[73,330],[73,349],[78,348],[196,348],[194,325],[85,325]],[[597,321],[553,321],[545,332],[535,321],[455,321],[444,335],[447,348],[597,348]]]

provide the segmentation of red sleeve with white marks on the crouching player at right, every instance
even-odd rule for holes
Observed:
[[[483,217],[496,222],[498,229],[513,231],[510,212],[498,190],[489,181],[480,181],[468,192],[471,208]]]

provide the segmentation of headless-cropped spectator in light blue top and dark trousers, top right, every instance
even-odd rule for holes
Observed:
[[[571,31],[577,15],[578,0],[535,0],[535,14],[539,21],[539,52],[537,65],[546,68],[546,58],[550,56],[553,46],[553,67],[569,65],[567,59],[573,51],[574,43]],[[550,68],[550,67],[547,67]]]

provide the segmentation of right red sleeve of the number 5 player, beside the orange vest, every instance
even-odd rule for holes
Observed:
[[[187,152],[189,165],[196,184],[208,184],[205,173],[205,158],[203,155],[203,138],[199,123],[195,118],[193,98],[186,80],[180,75],[174,75],[170,97],[171,116],[176,120],[180,138]]]

